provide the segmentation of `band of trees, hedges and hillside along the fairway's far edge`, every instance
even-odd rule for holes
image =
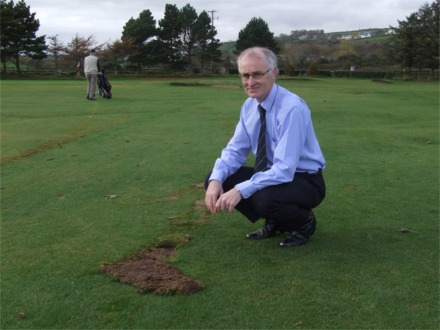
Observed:
[[[160,72],[216,72],[235,67],[235,56],[250,46],[264,46],[279,56],[286,74],[295,68],[312,72],[318,66],[400,66],[404,71],[439,66],[439,1],[424,4],[406,20],[390,27],[393,33],[380,40],[351,42],[329,37],[322,30],[292,31],[275,37],[261,18],[252,18],[239,31],[238,39],[223,43],[206,11],[190,5],[166,4],[163,19],[156,22],[150,10],[130,18],[121,39],[98,44],[93,35],[78,34],[65,45],[58,35],[38,36],[39,21],[24,0],[0,0],[1,62],[3,72],[13,63],[31,59],[35,66],[51,56],[55,69],[75,70],[91,48],[97,49],[103,66],[114,72],[155,68]]]

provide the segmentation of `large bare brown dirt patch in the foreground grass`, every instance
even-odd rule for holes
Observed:
[[[164,263],[175,251],[175,247],[150,247],[136,257],[116,264],[105,264],[102,268],[119,281],[133,285],[138,292],[192,294],[203,289],[201,282],[182,275],[175,266]]]

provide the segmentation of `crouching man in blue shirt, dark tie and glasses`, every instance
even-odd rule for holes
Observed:
[[[212,214],[236,208],[251,222],[263,218],[263,227],[248,239],[285,232],[281,247],[307,243],[316,228],[312,209],[325,197],[326,164],[310,110],[275,83],[277,57],[269,49],[246,49],[237,62],[249,98],[234,135],[205,179],[205,204]],[[254,167],[245,166],[250,152]]]

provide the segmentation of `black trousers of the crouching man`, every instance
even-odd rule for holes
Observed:
[[[249,180],[254,174],[252,167],[241,167],[223,183],[225,192],[236,184]],[[205,189],[211,172],[205,179]],[[322,172],[316,174],[295,173],[291,182],[269,186],[242,199],[236,209],[249,221],[260,218],[274,221],[279,229],[293,231],[308,220],[310,210],[317,207],[325,197],[325,182]]]

